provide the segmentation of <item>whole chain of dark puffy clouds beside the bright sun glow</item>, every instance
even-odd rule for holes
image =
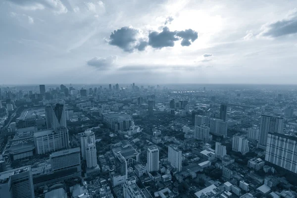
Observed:
[[[147,46],[155,49],[174,47],[174,42],[182,39],[182,46],[190,46],[197,38],[198,33],[192,29],[185,31],[170,31],[163,27],[161,32],[150,32],[148,38],[140,37],[141,31],[132,27],[122,27],[109,36],[108,43],[124,51],[132,52],[134,49],[143,51]]]

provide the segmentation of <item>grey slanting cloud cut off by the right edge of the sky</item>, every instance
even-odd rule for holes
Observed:
[[[297,33],[297,9],[295,8],[287,18],[265,24],[259,34],[264,37],[277,38]]]

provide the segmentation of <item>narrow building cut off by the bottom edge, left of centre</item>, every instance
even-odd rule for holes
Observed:
[[[146,198],[142,190],[136,185],[136,178],[128,178],[123,185],[124,198]]]

